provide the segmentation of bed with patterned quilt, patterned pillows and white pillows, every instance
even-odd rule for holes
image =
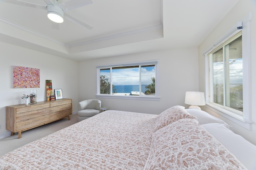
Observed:
[[[216,125],[232,134],[224,121],[183,106],[159,115],[108,110],[1,156],[0,169],[255,170],[256,146],[234,134],[246,145],[238,159]]]

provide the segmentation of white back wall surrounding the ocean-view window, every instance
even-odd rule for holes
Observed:
[[[160,114],[184,104],[185,92],[198,90],[198,49],[176,49],[95,59],[79,63],[79,101],[96,98],[96,66],[159,61],[160,101],[97,98],[113,110]]]

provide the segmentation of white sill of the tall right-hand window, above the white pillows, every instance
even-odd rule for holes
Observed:
[[[252,130],[252,121],[245,120],[242,115],[238,115],[236,113],[233,113],[232,111],[229,111],[227,109],[224,109],[222,107],[218,107],[211,103],[206,103],[206,107],[208,109],[211,109],[212,111],[215,111],[216,113],[222,115],[226,119],[229,119],[230,121],[233,121],[234,123],[248,129]]]

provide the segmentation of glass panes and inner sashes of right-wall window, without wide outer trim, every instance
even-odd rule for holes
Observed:
[[[242,31],[209,54],[210,102],[243,114]]]

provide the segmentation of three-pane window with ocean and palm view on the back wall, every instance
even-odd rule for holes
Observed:
[[[156,98],[157,61],[98,67],[98,95]]]

